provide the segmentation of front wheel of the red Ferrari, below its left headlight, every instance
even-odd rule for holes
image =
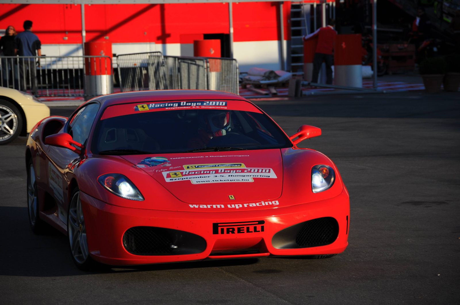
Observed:
[[[77,187],[70,196],[69,213],[67,214],[67,235],[72,260],[78,269],[98,271],[103,266],[92,259],[86,240],[86,226],[80,201],[80,189]]]

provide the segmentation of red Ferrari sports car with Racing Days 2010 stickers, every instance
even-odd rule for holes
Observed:
[[[310,255],[347,247],[350,203],[324,154],[296,146],[241,96],[163,90],[99,96],[41,120],[27,142],[34,232],[69,237],[75,264]]]

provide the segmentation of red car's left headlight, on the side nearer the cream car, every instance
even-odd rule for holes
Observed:
[[[131,200],[144,200],[137,187],[129,181],[127,177],[121,174],[105,174],[98,178],[98,182],[109,192],[114,193],[121,198]]]

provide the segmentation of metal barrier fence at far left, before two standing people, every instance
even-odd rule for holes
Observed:
[[[2,87],[36,96],[113,93],[109,56],[0,56]]]

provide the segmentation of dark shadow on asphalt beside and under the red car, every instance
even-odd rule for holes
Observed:
[[[74,265],[67,237],[52,228],[35,235],[29,226],[27,208],[0,207],[0,276],[64,277],[90,274]],[[209,268],[252,265],[258,259],[215,260],[137,266],[112,266],[97,273]]]

